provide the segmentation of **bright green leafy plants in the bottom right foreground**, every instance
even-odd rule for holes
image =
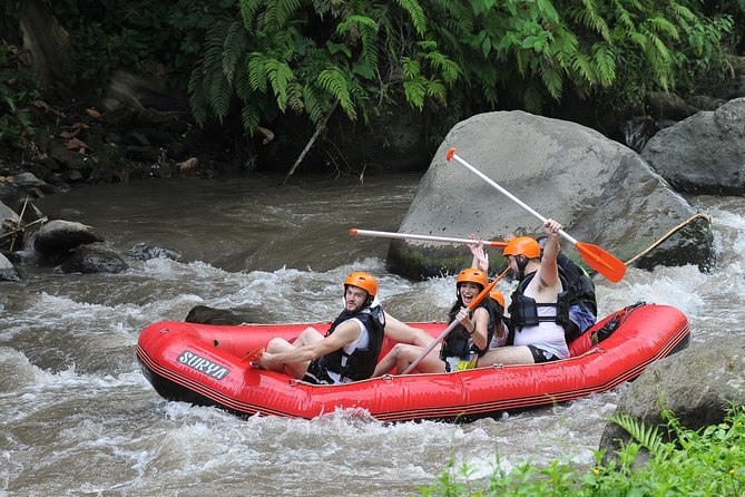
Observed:
[[[435,484],[422,488],[422,496],[739,496],[745,493],[745,410],[731,409],[724,422],[694,431],[664,412],[674,440],[664,441],[656,428],[618,416],[633,441],[618,454],[618,461],[602,465],[602,451],[589,470],[561,461],[545,468],[526,462],[507,474],[497,469],[488,481],[472,481],[473,470],[455,467],[451,459]],[[640,464],[646,449],[649,458]]]

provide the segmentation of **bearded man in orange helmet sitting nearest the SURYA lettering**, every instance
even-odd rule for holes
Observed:
[[[380,355],[385,328],[385,313],[376,294],[378,282],[370,273],[350,274],[344,280],[344,311],[325,337],[308,327],[293,343],[274,338],[252,363],[317,384],[370,378]]]

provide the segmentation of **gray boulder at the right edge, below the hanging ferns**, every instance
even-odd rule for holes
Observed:
[[[679,192],[745,194],[745,98],[663,129],[641,157]]]

